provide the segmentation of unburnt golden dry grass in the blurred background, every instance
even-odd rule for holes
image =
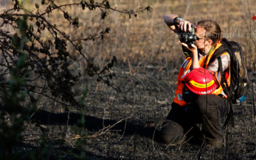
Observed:
[[[79,1],[58,0],[57,2],[63,4]],[[36,10],[35,3],[40,3],[40,1],[26,1],[28,8],[34,11]],[[111,0],[109,3],[119,10],[136,10],[148,5],[152,6],[153,10],[152,12],[140,13],[138,17],[131,17],[131,19],[128,15],[108,11],[106,19],[102,20],[98,9],[90,12],[89,10],[82,10],[81,6],[74,6],[65,9],[71,13],[72,17],[80,18],[79,28],[70,26],[68,22],[65,23],[63,14],[60,12],[53,12],[53,16],[49,20],[60,26],[62,31],[66,31],[74,39],[97,35],[100,31],[110,27],[111,31],[104,37],[104,40],[81,42],[84,53],[100,67],[112,56],[116,56],[119,61],[126,63],[129,60],[140,66],[157,63],[166,67],[171,62],[174,67],[179,67],[184,55],[180,45],[177,44],[177,36],[164,24],[163,15],[174,13],[191,22],[212,19],[220,24],[225,37],[241,44],[246,51],[248,67],[255,70],[256,22],[251,19],[252,15],[256,14],[255,1]],[[41,6],[40,8],[44,7]],[[44,33],[42,38],[47,40],[51,36]]]

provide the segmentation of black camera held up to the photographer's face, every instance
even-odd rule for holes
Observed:
[[[189,47],[192,44],[195,45],[195,41],[199,40],[199,38],[195,35],[195,26],[191,26],[191,31],[189,31],[189,29],[187,29],[187,32],[179,31],[179,39],[180,42],[188,44]]]

